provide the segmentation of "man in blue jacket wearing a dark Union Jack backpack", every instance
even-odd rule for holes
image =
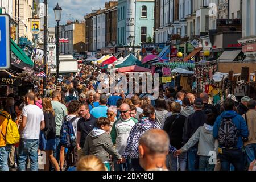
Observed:
[[[243,138],[249,135],[245,119],[234,111],[235,102],[228,98],[224,101],[225,111],[216,119],[213,126],[213,137],[218,139],[218,157],[221,170],[229,171],[232,164],[237,171],[245,167],[242,146]]]

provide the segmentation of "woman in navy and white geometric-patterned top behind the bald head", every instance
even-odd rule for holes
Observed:
[[[141,138],[141,135],[147,130],[160,129],[160,127],[156,125],[155,108],[152,105],[147,105],[144,108],[140,118],[139,122],[131,129],[127,139],[125,153],[123,154],[124,159],[131,159],[131,165],[134,171],[143,171],[142,167],[139,165],[139,138]]]

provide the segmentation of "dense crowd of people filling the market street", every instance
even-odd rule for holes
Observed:
[[[102,94],[101,69],[48,80],[26,96],[10,94],[0,114],[0,170],[256,170],[256,101],[229,94],[211,104],[204,92],[180,86],[145,94]],[[7,144],[9,117],[20,141]],[[15,165],[17,164],[17,166]]]

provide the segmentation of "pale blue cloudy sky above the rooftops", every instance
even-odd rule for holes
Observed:
[[[43,0],[40,2],[43,2]],[[53,8],[56,7],[57,2],[62,8],[60,24],[65,24],[67,20],[84,20],[86,13],[90,13],[100,7],[103,8],[108,0],[48,0],[49,27],[56,25]]]

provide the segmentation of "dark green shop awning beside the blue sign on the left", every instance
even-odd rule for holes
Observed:
[[[24,67],[33,68],[33,61],[31,61],[31,59],[26,55],[26,53],[24,53],[24,51],[21,48],[19,48],[19,46],[13,41],[13,39],[10,40],[11,52],[13,52],[14,55],[19,59],[19,61],[13,59],[11,64],[17,66],[20,69],[23,69]]]

